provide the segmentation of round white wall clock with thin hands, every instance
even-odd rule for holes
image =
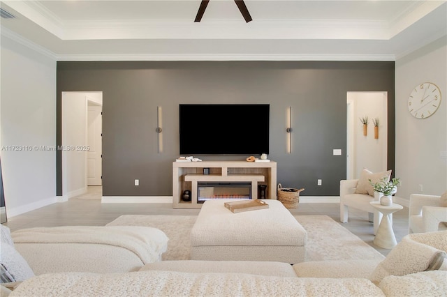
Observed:
[[[432,116],[439,105],[441,105],[441,91],[431,82],[416,86],[408,98],[408,110],[416,119]]]

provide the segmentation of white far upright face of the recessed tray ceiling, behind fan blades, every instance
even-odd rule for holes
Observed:
[[[364,20],[256,20],[241,24],[213,20],[135,20],[65,22],[64,40],[91,39],[353,39],[386,40],[388,24]]]

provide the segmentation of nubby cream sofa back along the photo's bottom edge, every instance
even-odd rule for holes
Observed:
[[[385,296],[360,278],[300,278],[246,273],[54,273],[22,282],[10,296]]]

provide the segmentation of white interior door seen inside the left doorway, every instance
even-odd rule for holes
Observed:
[[[89,105],[87,112],[87,185],[101,185],[102,175],[102,107]]]

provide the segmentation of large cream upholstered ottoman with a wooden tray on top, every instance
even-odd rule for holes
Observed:
[[[232,213],[208,200],[191,230],[191,260],[305,261],[307,232],[280,201],[269,208]]]

